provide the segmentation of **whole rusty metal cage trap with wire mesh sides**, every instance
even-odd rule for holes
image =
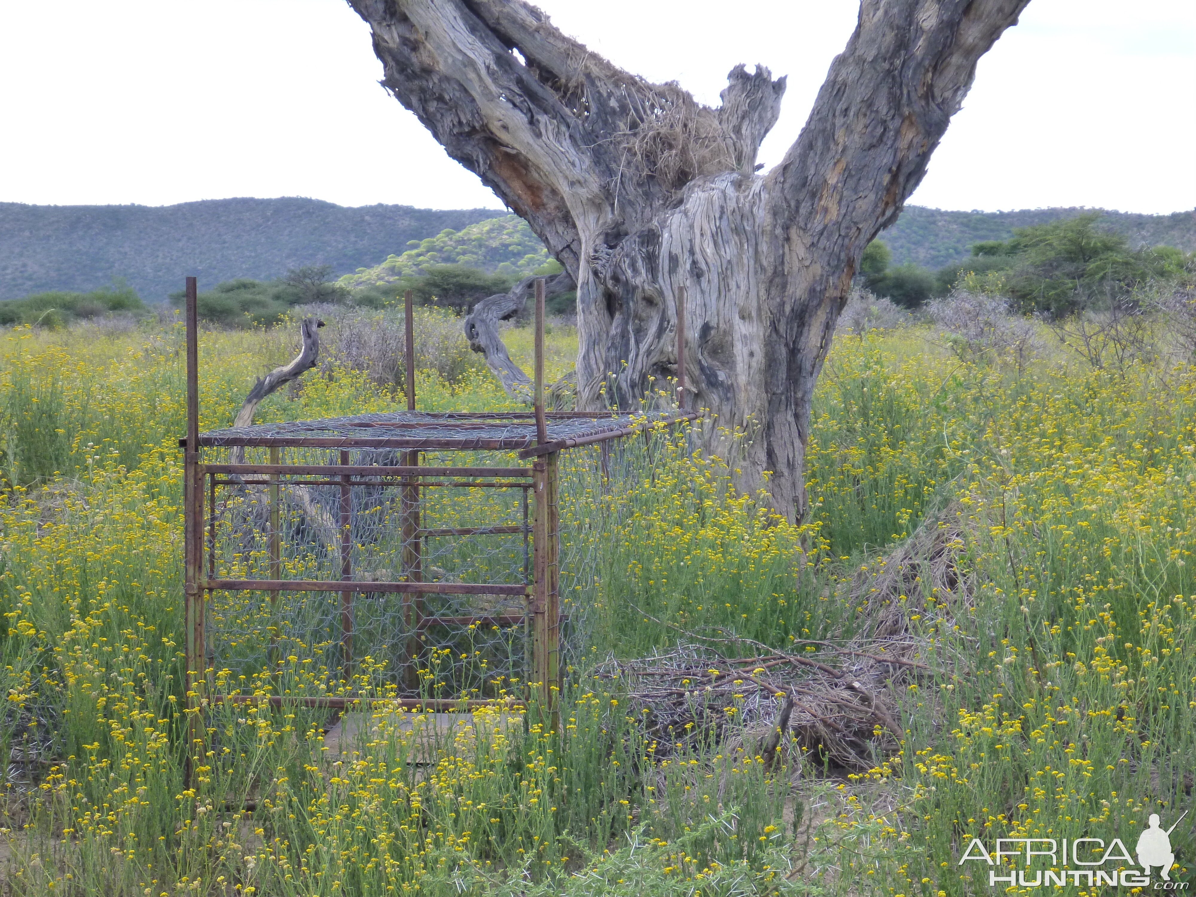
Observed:
[[[399,707],[553,703],[561,453],[698,415],[545,413],[542,281],[533,410],[419,411],[407,303],[405,411],[200,433],[187,279],[189,709],[344,708],[364,665]]]

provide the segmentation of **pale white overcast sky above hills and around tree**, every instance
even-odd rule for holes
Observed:
[[[542,0],[620,66],[718,104],[737,62],[788,75],[761,161],[797,138],[855,0]],[[378,86],[340,0],[0,0],[0,201],[312,196],[502,203]],[[1032,0],[911,203],[1196,206],[1196,2]]]

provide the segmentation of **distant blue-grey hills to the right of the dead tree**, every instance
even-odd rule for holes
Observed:
[[[893,264],[915,262],[926,268],[942,268],[970,255],[969,246],[981,240],[1006,240],[1014,227],[1044,224],[1070,218],[1085,208],[1036,208],[1018,212],[944,212],[922,206],[907,206],[897,222],[880,234],[893,254]],[[1137,248],[1167,245],[1185,252],[1196,250],[1196,213],[1140,215],[1130,212],[1104,212],[1100,224],[1129,237]]]

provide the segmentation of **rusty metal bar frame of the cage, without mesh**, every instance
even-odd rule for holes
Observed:
[[[587,437],[568,439],[549,439],[548,422],[551,420],[602,419],[610,413],[602,411],[547,411],[544,408],[544,282],[536,281],[536,324],[535,324],[535,399],[531,413],[443,413],[429,415],[443,420],[448,426],[466,431],[471,422],[494,419],[527,419],[536,423],[536,445],[524,447],[519,457],[531,459],[530,468],[447,468],[423,466],[420,464],[420,452],[425,448],[502,450],[513,448],[502,440],[463,439],[411,439],[383,438],[366,435],[368,427],[362,427],[361,437],[348,439],[276,437],[246,438],[234,444],[244,446],[266,446],[270,450],[268,464],[205,464],[201,460],[201,447],[206,444],[199,426],[199,316],[197,285],[195,277],[187,277],[187,438],[179,440],[184,448],[183,505],[184,505],[184,627],[185,627],[185,692],[187,692],[187,732],[188,750],[185,776],[188,785],[193,781],[193,757],[203,756],[206,730],[201,708],[206,703],[255,703],[268,702],[271,706],[298,704],[306,707],[344,708],[354,704],[390,704],[413,709],[472,709],[483,706],[511,706],[513,698],[505,700],[452,700],[452,698],[347,698],[337,696],[292,696],[292,695],[214,695],[207,682],[210,678],[207,651],[207,633],[205,615],[208,596],[213,590],[261,591],[271,592],[271,602],[277,600],[279,592],[338,592],[341,600],[341,645],[343,675],[346,681],[353,671],[353,602],[354,596],[365,593],[398,592],[404,597],[404,620],[413,633],[408,645],[408,655],[414,660],[419,652],[419,639],[415,633],[434,626],[518,626],[523,622],[525,635],[531,642],[531,660],[526,684],[529,692],[525,700],[539,701],[549,713],[556,716],[557,694],[561,685],[561,604],[560,604],[560,475],[559,457],[563,450],[594,443],[604,444],[634,433],[647,432],[655,426],[669,426],[682,421],[695,420],[700,411],[687,411],[685,405],[685,297],[678,291],[677,301],[677,407],[678,411],[655,420],[637,421],[631,426],[606,431]],[[415,410],[415,341],[411,293],[404,295],[405,324],[405,392],[407,408]],[[459,421],[459,423],[458,423]],[[466,437],[468,438],[468,437]],[[493,443],[493,445],[492,445]],[[228,443],[233,444],[233,443]],[[523,444],[526,446],[526,443]],[[328,446],[341,450],[340,464],[288,464],[283,457],[287,447]],[[392,466],[352,465],[349,448],[355,447],[395,447],[403,450],[402,464]],[[605,451],[602,457],[604,475],[608,468]],[[224,476],[225,478],[219,478]],[[249,480],[244,477],[261,477]],[[238,477],[230,480],[227,477]],[[340,580],[283,580],[281,578],[281,532],[279,524],[280,487],[286,483],[309,482],[294,477],[324,477],[310,481],[321,486],[340,487],[338,525],[341,579]],[[428,480],[427,477],[437,477]],[[401,487],[401,520],[403,527],[403,559],[401,570],[405,581],[401,582],[355,582],[352,580],[352,536],[348,520],[352,517],[350,489],[355,486],[379,484],[388,480],[398,480]],[[269,580],[218,579],[214,568],[203,569],[205,561],[205,484],[213,489],[210,507],[214,511],[214,490],[225,484],[256,484],[267,488],[269,501]],[[451,529],[425,529],[420,520],[421,489],[434,487],[501,487],[521,488],[523,525],[521,526],[477,526]],[[531,495],[529,496],[529,489]],[[214,524],[209,525],[214,535]],[[447,535],[484,535],[514,533],[524,535],[524,585],[499,584],[462,584],[462,582],[425,582],[422,575],[422,542],[429,536]],[[529,551],[530,539],[530,551]],[[214,556],[214,547],[209,550],[209,560]],[[423,596],[426,594],[509,594],[524,596],[526,610],[523,615],[480,615],[476,617],[437,617],[425,616]],[[279,658],[277,648],[271,636],[268,664],[275,666]],[[415,664],[411,665],[414,671]]]

